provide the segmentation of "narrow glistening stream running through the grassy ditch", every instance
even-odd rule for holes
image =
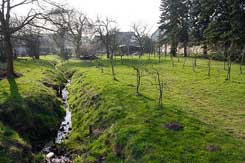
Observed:
[[[70,86],[71,81],[68,80],[66,85]],[[71,163],[69,156],[65,153],[64,150],[57,148],[57,145],[61,144],[63,140],[67,139],[71,130],[72,130],[72,121],[71,121],[71,111],[68,104],[68,94],[66,87],[62,90],[62,99],[64,100],[64,107],[66,110],[66,116],[60,125],[60,129],[55,138],[55,143],[47,144],[42,152],[45,154],[46,163]]]

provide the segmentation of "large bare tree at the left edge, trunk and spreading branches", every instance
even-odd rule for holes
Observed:
[[[31,23],[38,15],[34,9],[30,9],[26,16],[17,16],[13,10],[24,5],[32,5],[37,0],[22,0],[20,2],[13,0],[2,0],[0,2],[0,34],[3,36],[4,53],[7,56],[7,77],[14,77],[13,65],[13,46],[11,43],[12,36],[23,27]]]

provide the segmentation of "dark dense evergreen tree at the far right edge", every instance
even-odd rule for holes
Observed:
[[[243,0],[219,0],[213,12],[213,20],[204,31],[210,44],[233,44],[233,50],[243,47],[245,41],[245,5]]]

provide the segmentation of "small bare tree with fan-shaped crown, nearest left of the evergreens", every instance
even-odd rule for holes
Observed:
[[[141,57],[144,55],[144,42],[145,42],[145,36],[147,35],[146,34],[147,27],[142,26],[140,24],[133,24],[132,30],[134,32],[135,40],[138,42],[140,46],[140,56],[139,57]]]

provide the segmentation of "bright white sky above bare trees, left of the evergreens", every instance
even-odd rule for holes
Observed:
[[[160,0],[66,0],[72,7],[79,8],[89,17],[97,15],[117,20],[122,31],[130,30],[132,23],[141,23],[157,29]]]

